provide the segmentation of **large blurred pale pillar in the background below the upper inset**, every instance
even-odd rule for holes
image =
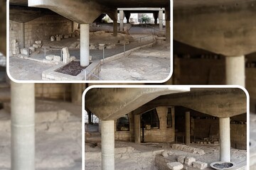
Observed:
[[[35,86],[11,81],[11,169],[35,169]]]

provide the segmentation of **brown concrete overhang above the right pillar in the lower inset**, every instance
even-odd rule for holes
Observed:
[[[195,90],[195,91],[193,91]],[[241,89],[191,89],[183,94],[159,96],[134,114],[141,114],[157,106],[183,106],[218,118],[246,113],[246,95]]]

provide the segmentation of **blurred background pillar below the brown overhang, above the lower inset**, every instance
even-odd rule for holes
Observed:
[[[245,86],[245,56],[225,58],[226,84]]]

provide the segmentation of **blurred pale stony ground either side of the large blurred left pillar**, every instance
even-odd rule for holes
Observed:
[[[36,169],[81,170],[81,106],[36,101]],[[10,113],[0,110],[0,169],[11,169]]]

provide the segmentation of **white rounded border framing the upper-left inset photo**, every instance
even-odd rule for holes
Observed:
[[[168,77],[166,77],[166,79],[164,80],[158,80],[158,81],[125,81],[125,80],[122,80],[122,81],[109,81],[109,80],[106,80],[106,81],[101,81],[101,80],[92,80],[92,81],[86,81],[86,80],[79,80],[79,81],[75,81],[75,80],[70,80],[70,81],[53,81],[53,80],[16,80],[14,79],[13,77],[11,77],[11,74],[9,72],[9,49],[10,49],[10,44],[9,44],[9,27],[10,27],[10,23],[9,23],[9,0],[6,1],[6,72],[7,72],[7,75],[9,77],[9,79],[11,79],[11,81],[14,81],[16,83],[96,83],[96,84],[107,84],[107,83],[125,83],[125,84],[129,84],[129,83],[136,83],[136,84],[143,84],[143,83],[164,83],[166,81],[168,81],[169,79],[171,79],[171,75],[173,74],[174,72],[174,57],[173,57],[173,23],[174,23],[174,20],[173,20],[173,0],[170,0],[170,34],[171,34],[171,37],[170,37],[170,74]]]

